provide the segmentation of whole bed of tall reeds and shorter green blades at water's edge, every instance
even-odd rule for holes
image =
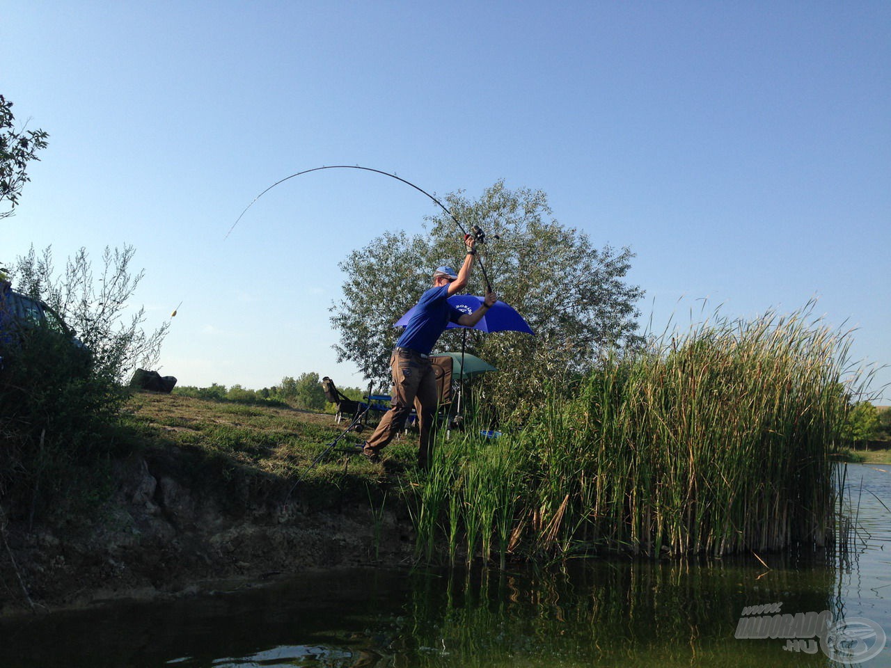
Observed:
[[[822,547],[849,398],[848,336],[809,308],[715,318],[608,354],[518,433],[470,428],[413,483],[419,557],[658,556]],[[567,391],[569,390],[569,391]],[[462,545],[460,543],[463,543]]]

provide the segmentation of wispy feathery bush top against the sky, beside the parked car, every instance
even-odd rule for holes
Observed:
[[[151,369],[158,363],[170,326],[163,322],[147,334],[144,308],[128,309],[144,274],[133,273],[134,255],[135,248],[129,245],[106,247],[97,275],[86,248],[80,248],[69,258],[65,271],[56,275],[52,249],[37,255],[32,247],[28,255],[18,258],[13,274],[15,288],[53,307],[92,351],[97,368],[119,380],[137,367]]]

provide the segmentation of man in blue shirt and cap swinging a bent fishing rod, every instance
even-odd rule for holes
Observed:
[[[439,396],[436,375],[430,363],[430,351],[449,322],[473,327],[495,304],[497,298],[494,292],[487,292],[483,304],[472,314],[464,314],[446,301],[467,286],[473,258],[477,253],[474,248],[476,242],[473,236],[465,237],[467,255],[458,273],[454,273],[448,266],[437,268],[433,273],[433,287],[421,295],[405,332],[396,342],[396,348],[390,356],[390,371],[393,374],[392,405],[362,448],[362,453],[372,461],[379,459],[380,451],[404,427],[417,399],[420,404],[418,421],[421,429],[418,466],[429,468],[433,454],[430,432]]]

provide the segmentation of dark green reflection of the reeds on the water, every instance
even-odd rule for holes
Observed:
[[[428,582],[412,597],[413,620],[426,623],[399,637],[454,657],[413,665],[778,664],[783,641],[734,639],[742,608],[822,610],[832,578],[824,569],[807,581],[792,571],[758,576],[723,563],[586,562],[453,579],[445,593]]]

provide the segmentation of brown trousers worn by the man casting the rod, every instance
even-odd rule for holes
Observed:
[[[418,426],[421,428],[418,465],[428,468],[433,455],[431,428],[439,399],[436,373],[428,357],[421,357],[421,354],[405,348],[393,351],[390,371],[393,373],[390,410],[380,419],[378,428],[369,437],[365,448],[380,452],[396,434],[405,429],[405,420],[408,420],[414,404],[418,411]]]

